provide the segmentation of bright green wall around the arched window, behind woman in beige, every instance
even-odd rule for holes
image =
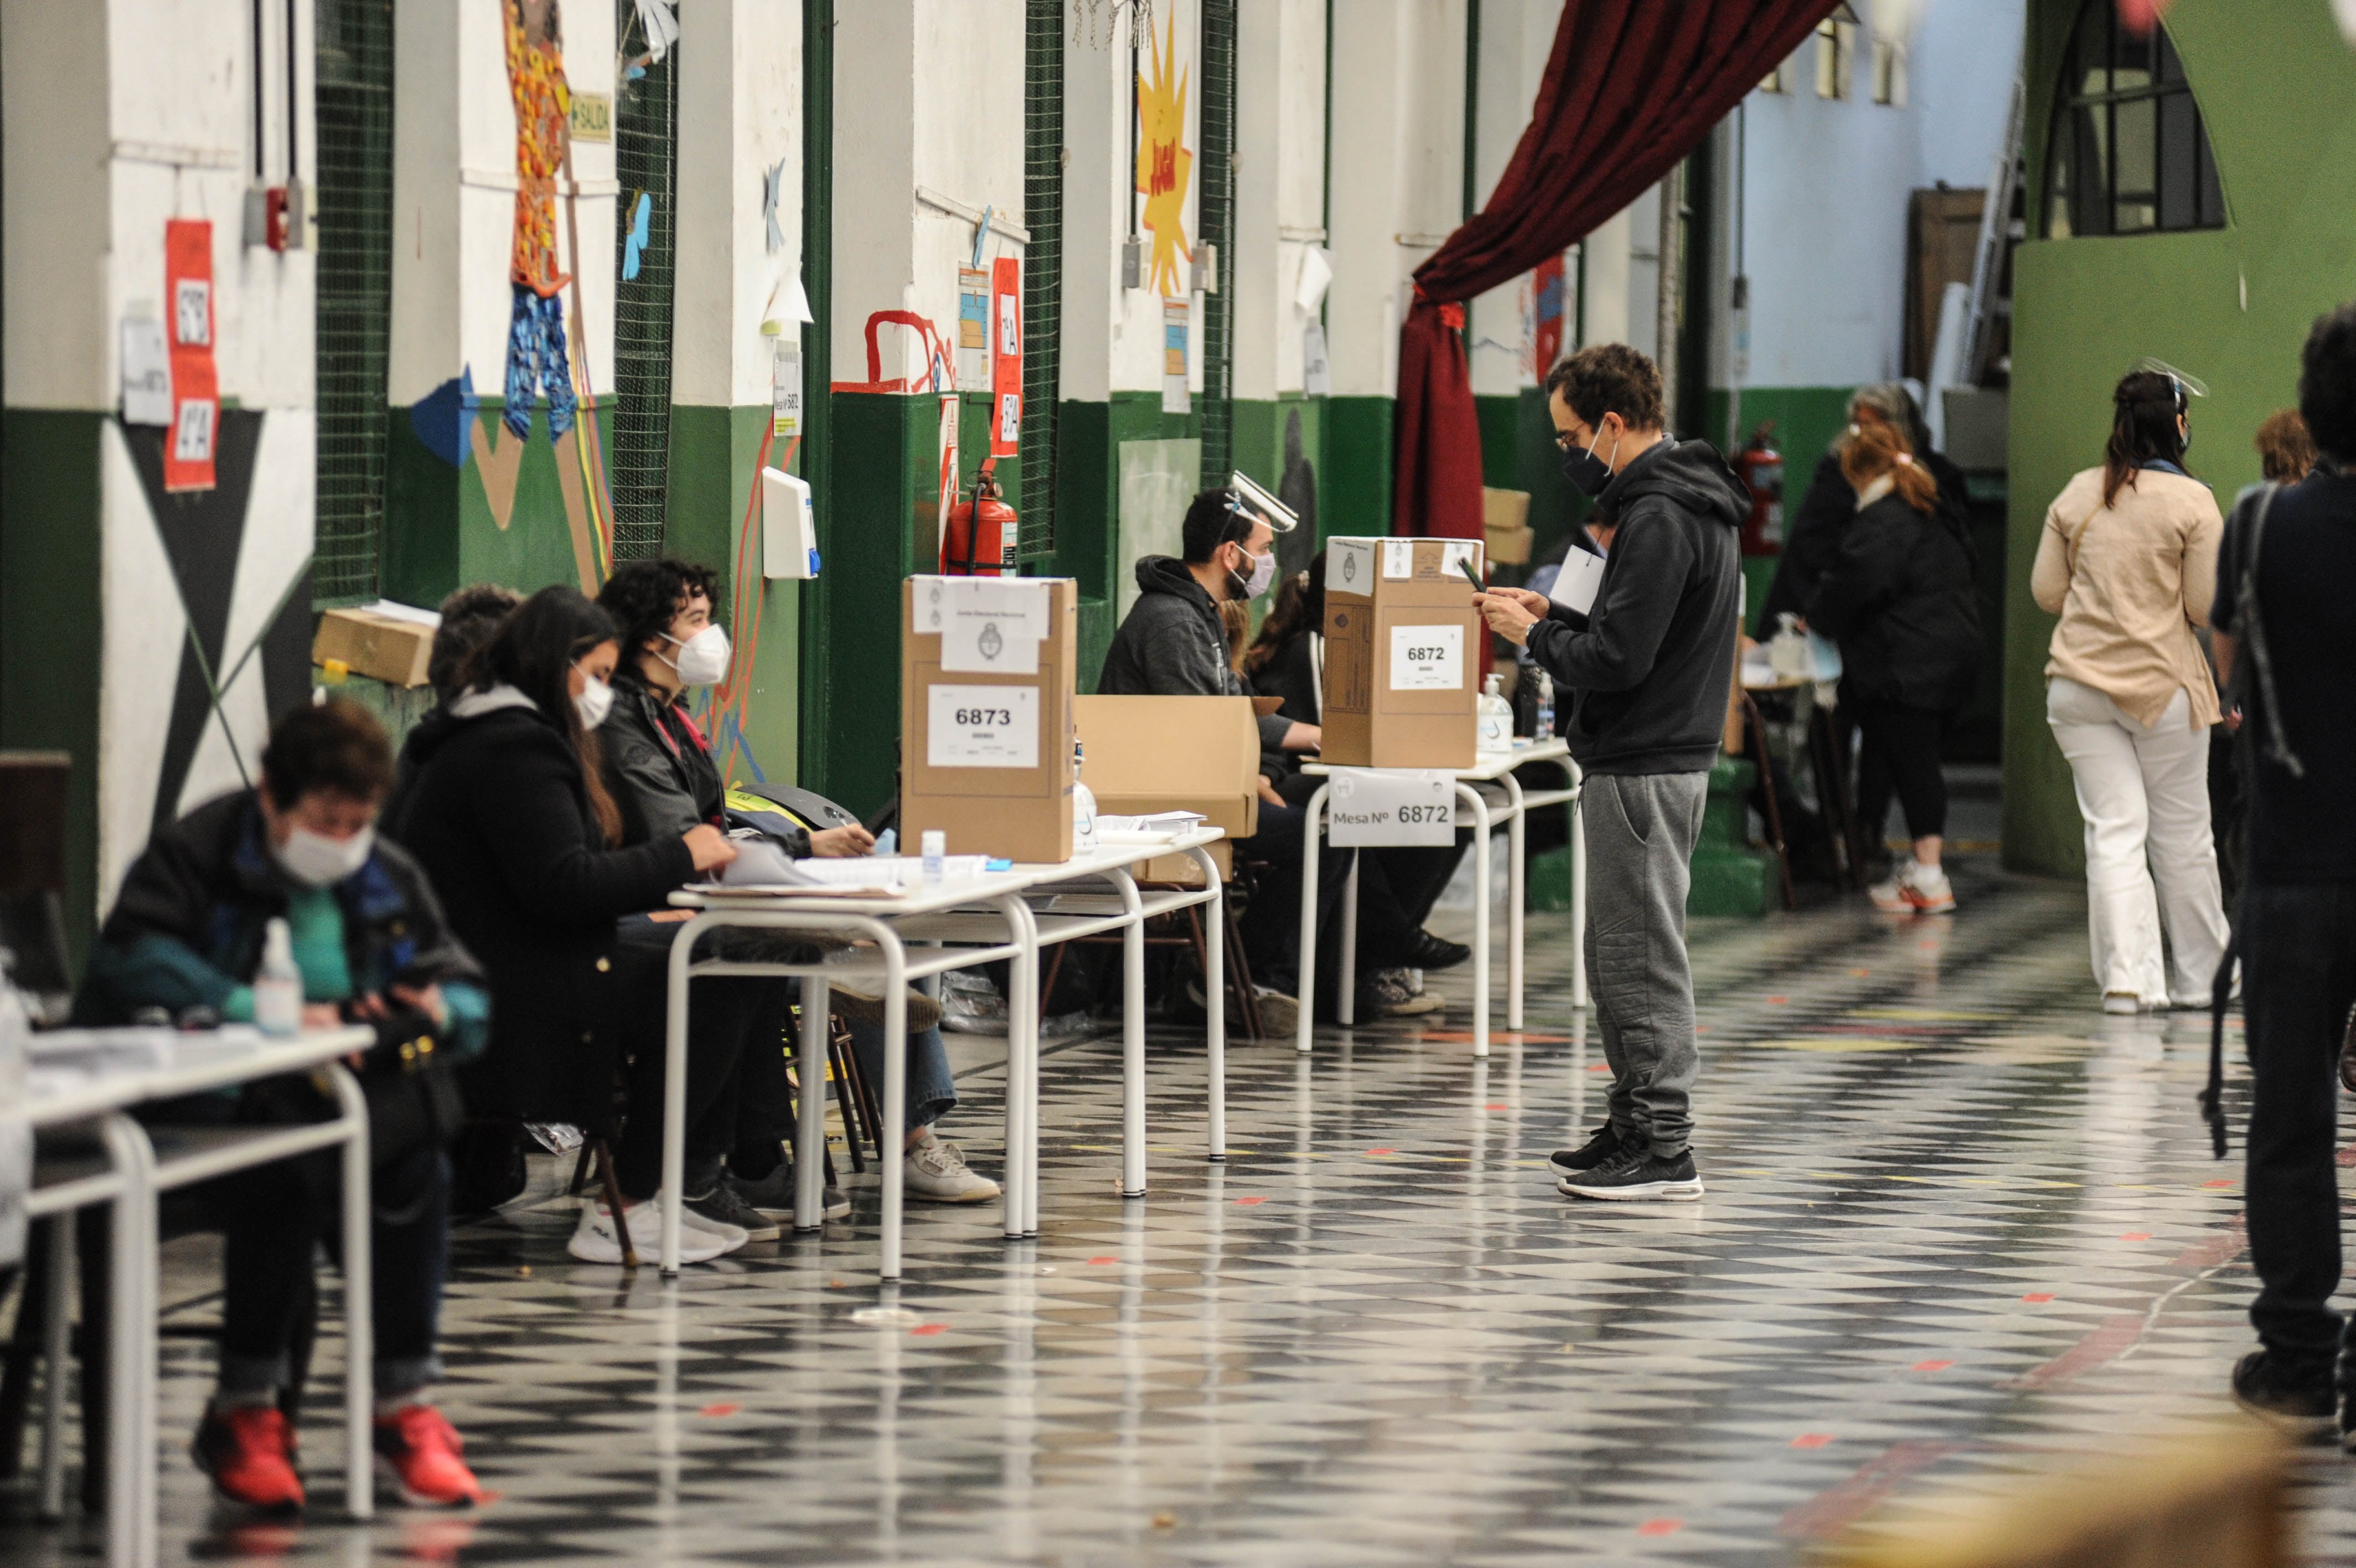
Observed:
[[[2029,5],[2031,233],[2076,0]],[[2229,505],[2250,431],[2297,396],[2299,344],[2356,295],[2356,57],[2304,0],[2179,0],[2168,33],[2201,101],[2231,226],[2029,241],[2014,259],[2005,549],[2005,863],[2083,872],[2069,766],[2045,729],[2052,618],[2029,597],[2045,507],[2102,462],[2111,387],[2144,354],[2203,377],[2189,467]]]

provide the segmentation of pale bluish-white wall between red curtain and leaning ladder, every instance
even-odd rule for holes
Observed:
[[[1746,99],[1743,264],[1751,387],[1854,387],[1899,373],[1906,203],[1946,179],[1979,186],[2003,146],[2024,0],[1925,0],[1906,106],[1871,94],[1871,26],[1854,92],[1819,99],[1819,47],[1800,45],[1788,92]]]

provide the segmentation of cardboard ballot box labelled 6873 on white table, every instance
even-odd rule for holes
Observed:
[[[900,589],[900,844],[1072,858],[1070,578],[909,578]]]

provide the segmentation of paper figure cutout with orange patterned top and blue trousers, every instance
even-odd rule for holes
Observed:
[[[516,233],[507,278],[507,429],[532,434],[532,401],[549,398],[549,441],[573,429],[573,365],[556,295],[570,281],[556,266],[556,170],[565,163],[570,90],[563,14],[556,0],[502,0],[507,90],[516,104]]]

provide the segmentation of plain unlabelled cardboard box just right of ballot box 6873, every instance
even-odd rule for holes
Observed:
[[[1227,839],[1260,830],[1260,726],[1251,698],[1077,698],[1081,778],[1105,816],[1202,811],[1227,837],[1211,846],[1220,879],[1235,868]],[[1140,882],[1199,884],[1190,856],[1159,856]]]

